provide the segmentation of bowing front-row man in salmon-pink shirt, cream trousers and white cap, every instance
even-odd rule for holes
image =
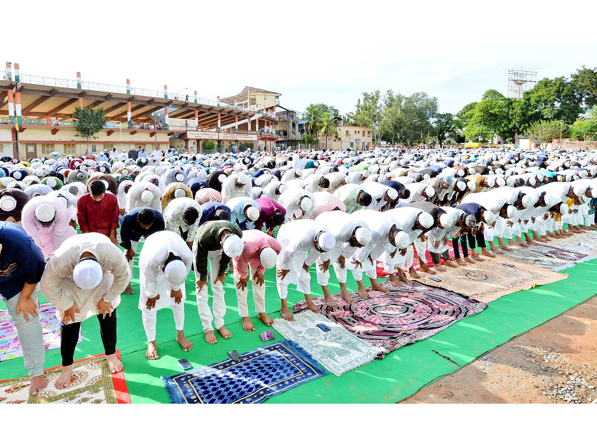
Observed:
[[[276,265],[282,246],[275,238],[256,229],[243,231],[242,242],[244,243],[242,253],[232,259],[234,284],[236,285],[238,314],[242,318],[242,328],[245,332],[254,332],[255,326],[249,318],[247,306],[247,283],[249,281],[247,271],[250,265],[253,300],[257,318],[269,327],[273,321],[265,314],[265,280],[263,274],[266,269],[271,269]]]

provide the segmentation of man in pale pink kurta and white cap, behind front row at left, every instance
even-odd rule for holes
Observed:
[[[36,196],[23,207],[23,229],[33,238],[44,259],[70,237],[70,214],[64,202],[57,197]]]

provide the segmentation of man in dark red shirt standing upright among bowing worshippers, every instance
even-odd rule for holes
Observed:
[[[77,201],[77,218],[79,229],[84,234],[97,232],[109,237],[116,243],[116,229],[118,228],[118,198],[106,192],[106,185],[99,179],[94,179],[88,185],[89,193],[79,197]]]

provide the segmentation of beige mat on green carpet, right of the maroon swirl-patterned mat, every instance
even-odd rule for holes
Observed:
[[[448,290],[463,291],[471,299],[489,303],[515,291],[531,289],[537,285],[553,283],[568,277],[568,274],[559,274],[501,256],[482,258],[484,260],[482,262],[447,268],[445,272],[436,272],[436,274],[419,272],[421,278],[418,281],[433,286],[441,285]],[[509,263],[514,267],[510,268],[502,263]],[[442,281],[436,283],[429,280],[429,277],[437,277]]]

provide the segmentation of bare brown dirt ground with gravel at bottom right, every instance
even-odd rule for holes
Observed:
[[[400,403],[597,404],[597,296]]]

